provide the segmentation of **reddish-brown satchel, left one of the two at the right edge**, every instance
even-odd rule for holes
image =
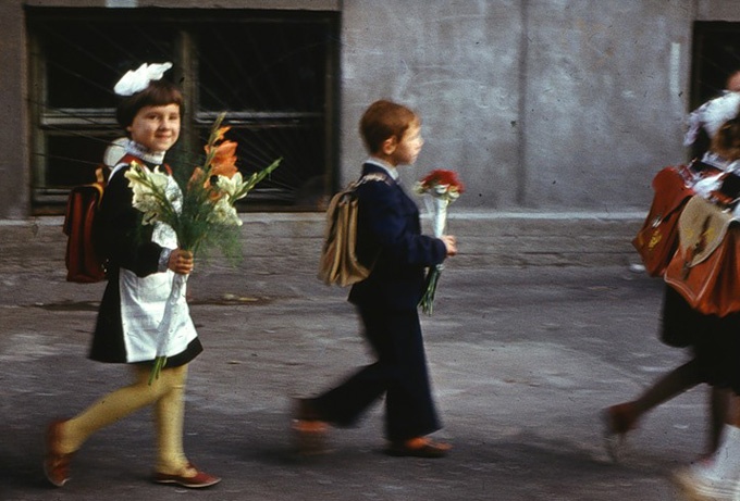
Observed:
[[[693,190],[686,185],[687,166],[661,170],[653,178],[655,196],[648,217],[632,239],[651,276],[661,276],[676,252],[678,245],[678,217]]]

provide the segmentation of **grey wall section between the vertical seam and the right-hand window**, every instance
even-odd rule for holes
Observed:
[[[530,2],[523,205],[644,208],[656,170],[684,160],[686,3]]]

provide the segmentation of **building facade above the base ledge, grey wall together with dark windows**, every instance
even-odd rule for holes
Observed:
[[[404,178],[458,171],[460,209],[644,211],[688,159],[687,112],[740,66],[740,0],[4,0],[0,28],[0,220],[63,211],[141,62],[185,90],[172,163],[197,164],[220,112],[242,170],[284,159],[252,212],[320,210],[380,98],[423,120]]]

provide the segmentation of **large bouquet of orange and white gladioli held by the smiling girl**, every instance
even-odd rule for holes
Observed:
[[[149,170],[146,165],[132,163],[125,174],[134,191],[133,205],[144,213],[143,224],[161,222],[169,225],[177,236],[178,247],[194,255],[209,246],[219,247],[226,254],[234,252],[242,225],[234,203],[246,197],[282,160],[275,160],[244,179],[236,167],[237,143],[224,140],[230,127],[221,127],[223,116],[221,114],[213,124],[205,146],[203,165],[195,167],[186,186],[168,189],[170,176],[159,166]],[[159,377],[166,363],[168,345],[177,324],[173,320],[182,314],[178,309],[183,304],[181,299],[185,295],[186,281],[187,275],[175,274],[158,327],[157,356],[149,384]]]

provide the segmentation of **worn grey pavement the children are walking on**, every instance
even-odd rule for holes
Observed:
[[[46,423],[121,386],[127,373],[85,358],[103,286],[64,281],[57,228],[0,226],[0,500],[677,499],[670,472],[703,451],[705,389],[650,414],[620,464],[603,451],[599,419],[605,405],[634,396],[683,360],[656,338],[659,280],[630,271],[636,259],[628,243],[602,245],[593,259],[543,245],[525,261],[485,259],[498,252],[486,252],[496,245],[516,247],[503,230],[488,240],[476,231],[490,221],[466,230],[469,241],[479,239],[469,249],[478,250],[449,262],[435,314],[422,320],[446,425],[439,435],[455,446],[452,454],[382,454],[379,404],[358,428],[332,430],[332,454],[296,456],[288,398],[325,389],[370,360],[346,290],[314,277],[318,223],[308,220],[291,229],[247,224],[252,243],[245,262],[201,263],[193,275],[192,311],[206,352],[190,368],[186,449],[223,477],[203,491],[147,481],[148,411],[94,436],[77,453],[67,486],[47,486]],[[540,224],[521,238],[557,234],[557,222]],[[624,227],[621,240],[637,224],[614,223]],[[606,238],[599,230],[579,235]],[[577,247],[575,237],[557,246],[568,241]],[[582,254],[594,256],[597,247]]]

